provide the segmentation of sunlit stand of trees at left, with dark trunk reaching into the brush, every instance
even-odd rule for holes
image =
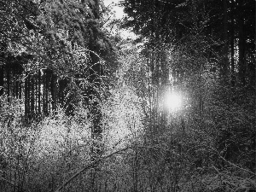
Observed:
[[[94,138],[91,160],[95,160],[102,154],[101,57],[112,49],[102,31],[103,3],[98,0],[0,3],[3,5],[0,18],[5,26],[0,31],[3,50],[0,86],[9,96],[9,102],[14,97],[24,101],[25,125],[34,120],[40,122],[59,106],[66,109],[67,116],[73,116],[83,103],[84,108],[90,109]]]

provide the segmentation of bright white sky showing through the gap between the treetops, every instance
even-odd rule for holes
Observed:
[[[125,16],[124,8],[121,6],[118,6],[119,0],[103,0],[106,7],[109,7],[112,9],[115,19],[122,19]],[[134,32],[131,32],[129,30],[121,29],[119,30],[121,38],[136,38],[137,36],[134,34]]]

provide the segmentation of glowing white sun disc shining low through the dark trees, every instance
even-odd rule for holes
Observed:
[[[166,108],[176,111],[182,108],[182,96],[176,92],[166,94],[165,99]]]

